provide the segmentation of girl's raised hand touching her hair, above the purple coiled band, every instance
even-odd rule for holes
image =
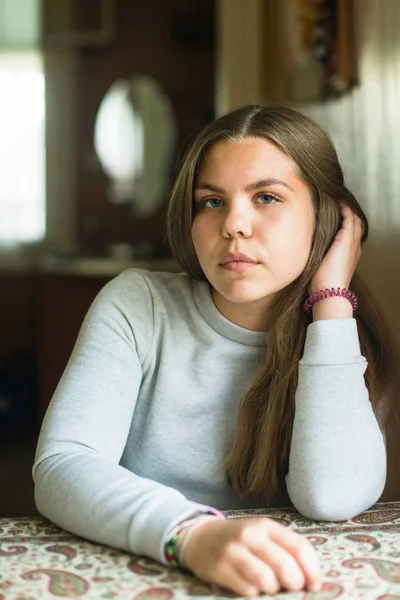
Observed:
[[[326,288],[349,288],[361,257],[362,221],[342,204],[342,227],[311,280],[310,293]]]

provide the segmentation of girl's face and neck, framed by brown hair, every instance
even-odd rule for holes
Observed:
[[[315,216],[295,163],[259,137],[211,146],[194,193],[194,247],[219,311],[266,329],[274,295],[304,270]]]

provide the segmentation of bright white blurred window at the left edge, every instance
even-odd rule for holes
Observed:
[[[40,52],[0,52],[0,245],[45,235],[45,94]]]

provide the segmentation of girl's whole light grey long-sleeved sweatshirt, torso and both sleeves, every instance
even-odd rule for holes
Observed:
[[[194,511],[253,508],[221,467],[268,336],[215,307],[207,282],[125,271],[100,292],[44,419],[39,511],[77,535],[165,562]],[[307,330],[287,491],[312,519],[353,517],[386,479],[354,319]]]

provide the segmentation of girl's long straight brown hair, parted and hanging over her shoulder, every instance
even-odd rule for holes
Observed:
[[[243,107],[223,115],[200,133],[183,158],[172,190],[167,236],[174,256],[192,277],[206,279],[191,236],[193,193],[205,152],[220,140],[247,137],[274,142],[295,162],[311,191],[316,218],[303,273],[276,294],[270,308],[265,359],[242,398],[235,439],[225,464],[229,481],[240,495],[270,503],[282,493],[288,470],[298,363],[311,321],[302,306],[311,278],[340,228],[340,202],[361,218],[362,243],[368,236],[368,221],[345,186],[331,140],[316,123],[284,105]],[[397,380],[396,348],[371,293],[357,274],[351,289],[359,296],[356,319],[361,351],[368,362],[365,381],[372,406],[378,410],[383,398],[388,407],[390,386]]]

